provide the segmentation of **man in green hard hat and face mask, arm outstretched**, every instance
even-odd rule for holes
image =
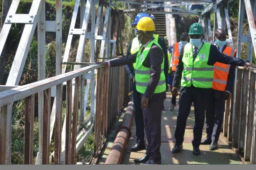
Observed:
[[[203,43],[203,27],[199,23],[194,23],[190,26],[188,35],[190,42],[182,47],[172,83],[172,92],[175,96],[177,96],[177,89],[181,85],[179,114],[177,116],[174,134],[176,142],[172,152],[177,153],[182,149],[186,120],[190,112],[191,103],[194,102],[195,125],[192,144],[193,154],[199,155],[199,145],[204,124],[205,102],[208,102],[207,96],[211,94],[212,90],[213,65],[219,62],[245,66],[246,69],[255,66],[246,60],[228,57],[219,52],[216,46]]]

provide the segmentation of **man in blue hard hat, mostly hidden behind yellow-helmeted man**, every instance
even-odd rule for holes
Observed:
[[[132,23],[134,28],[137,26],[139,20],[142,17],[149,17],[149,16],[146,13],[137,14],[134,22]],[[151,19],[153,20],[153,18],[151,18]],[[128,48],[127,48],[127,55],[137,54],[141,47],[141,44],[140,44],[140,42],[138,40],[138,36],[137,36],[137,30],[135,29],[134,31],[136,33],[136,37],[130,41]],[[160,38],[158,35],[153,34],[153,36],[163,50],[163,54],[164,54],[164,58],[165,58],[164,59],[164,73],[166,76],[166,83],[167,83],[169,64],[168,64],[168,54],[167,54],[166,44],[165,44],[165,41],[162,38]],[[131,147],[130,151],[136,152],[136,151],[145,149],[144,121],[143,121],[143,113],[142,113],[142,108],[141,108],[141,94],[140,94],[140,92],[138,92],[136,90],[136,83],[134,81],[136,63],[127,64],[127,65],[125,65],[125,68],[126,68],[127,73],[129,74],[131,81],[132,81],[134,120],[135,120],[135,125],[136,125],[136,144]]]

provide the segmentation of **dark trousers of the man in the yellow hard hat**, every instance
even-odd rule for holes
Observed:
[[[141,95],[142,97],[143,95]],[[144,117],[144,128],[146,134],[146,154],[152,160],[161,160],[161,113],[165,100],[165,92],[154,94],[148,101],[148,107],[142,109]]]

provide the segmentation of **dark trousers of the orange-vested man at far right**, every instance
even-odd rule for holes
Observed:
[[[222,95],[214,93],[213,90],[205,106],[207,137],[213,142],[218,142],[224,119],[225,100],[222,100]]]

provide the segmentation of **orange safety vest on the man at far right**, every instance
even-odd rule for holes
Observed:
[[[227,56],[234,57],[234,54],[236,53],[236,50],[232,49],[231,47],[226,47],[223,54]],[[214,64],[213,69],[213,82],[212,82],[212,88],[219,91],[225,91],[228,81],[228,73],[229,73],[229,64],[223,64],[216,62]]]

